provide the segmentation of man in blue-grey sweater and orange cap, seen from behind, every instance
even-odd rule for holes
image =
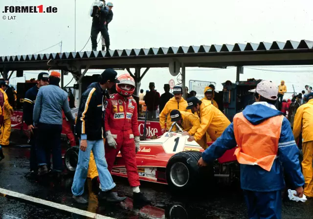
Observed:
[[[53,171],[59,176],[63,172],[63,160],[61,151],[62,110],[68,120],[75,122],[70,111],[67,93],[60,88],[61,74],[52,71],[49,77],[49,85],[39,89],[37,94],[33,121],[37,130],[37,163],[38,175],[49,172],[50,157],[52,151]]]

